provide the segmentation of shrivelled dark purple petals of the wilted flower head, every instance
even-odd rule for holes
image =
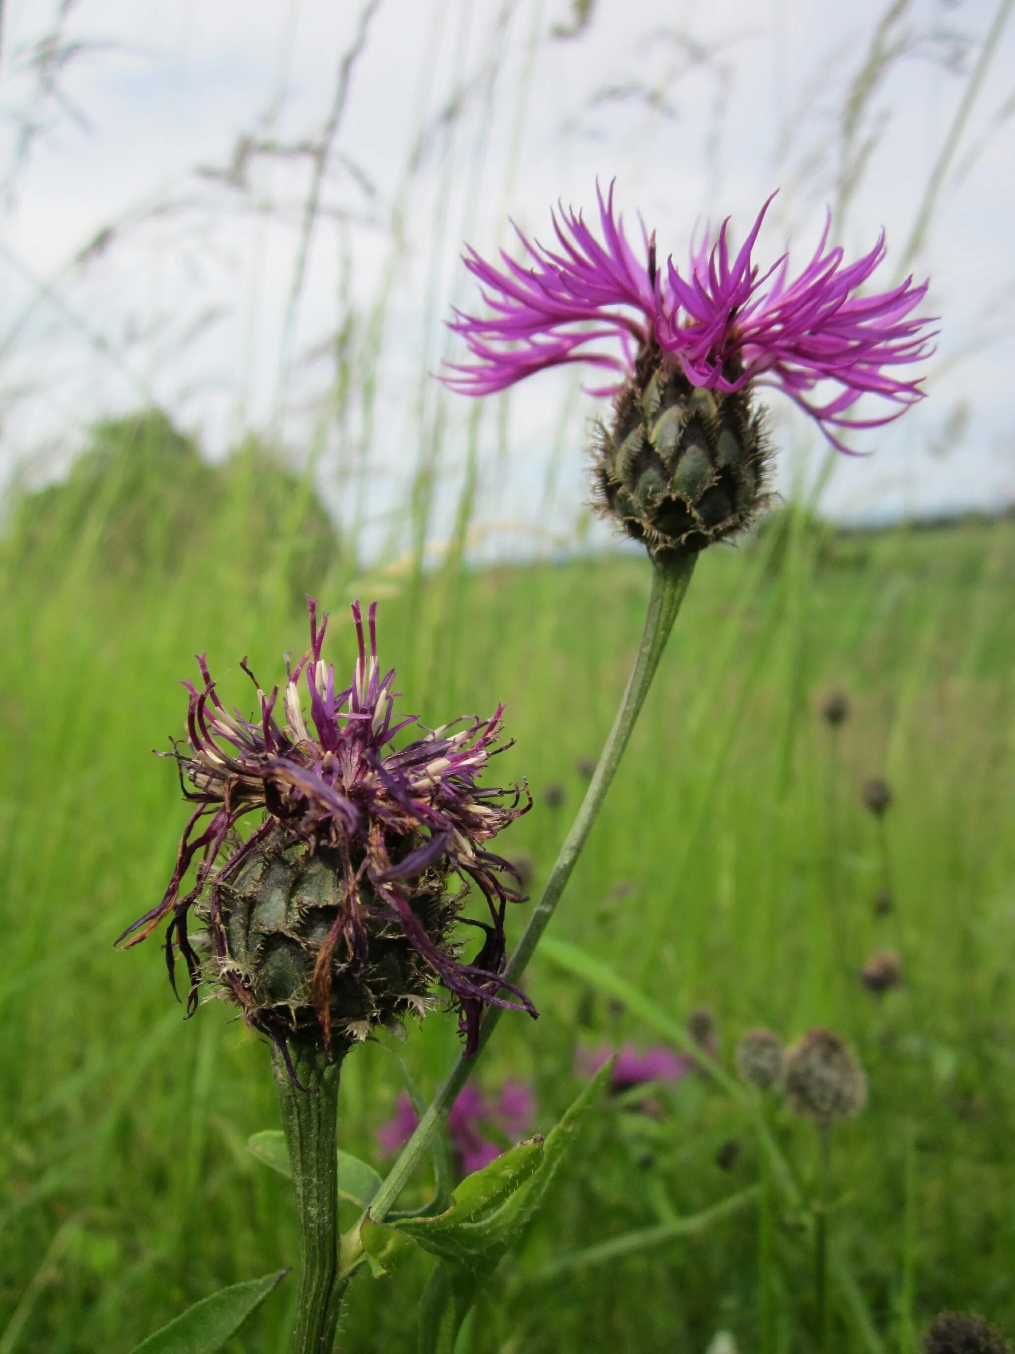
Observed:
[[[241,666],[254,682],[260,704],[260,718],[254,720],[225,708],[204,655],[198,657],[202,685],[183,684],[188,692],[189,746],[180,745],[172,754],[180,768],[184,796],[198,807],[184,830],[162,900],[119,940],[134,945],[169,917],[165,944],[169,974],[172,978],[179,953],[189,972],[188,1005],[194,1009],[200,974],[187,934],[189,909],[208,888],[210,929],[217,952],[225,959],[226,930],[219,915],[218,890],[281,827],[294,841],[336,849],[345,865],[349,902],[340,909],[321,946],[314,975],[325,1037],[329,1033],[332,953],[342,936],[349,953],[363,953],[367,937],[357,899],[368,884],[372,898],[388,909],[392,921],[457,1001],[466,1051],[471,1052],[484,1006],[521,1007],[535,1016],[529,999],[502,983],[499,976],[505,964],[506,903],[521,898],[502,876],[516,872],[483,845],[532,804],[528,792],[517,784],[509,789],[479,785],[490,757],[510,746],[498,743],[502,707],[498,705],[486,720],[459,719],[425,730],[422,738],[395,750],[395,735],[417,723],[418,716],[394,719],[394,669],[382,676],[378,662],[376,603],[367,619],[369,650],[360,605],[352,607],[359,658],[352,685],[336,691],[334,668],[321,658],[328,615],[318,624],[318,605],[313,598],[307,601],[310,650],[288,674],[284,723],[275,718],[279,688],[265,696],[246,659]],[[300,678],[309,696],[313,731],[303,718]],[[257,810],[267,812],[265,822],[219,867],[219,856],[234,826]],[[406,842],[413,844],[411,849],[394,852],[392,860],[392,848]],[[183,892],[183,880],[195,861],[194,886]],[[486,898],[490,921],[470,922],[484,934],[470,964],[436,945],[413,911],[410,881],[434,865],[464,881],[471,880]],[[263,1013],[253,1009],[242,979],[229,968],[225,975],[252,1024],[277,1041],[279,1032],[268,1028]],[[318,978],[323,982],[318,983]],[[498,995],[502,987],[513,991],[517,1001]]]

